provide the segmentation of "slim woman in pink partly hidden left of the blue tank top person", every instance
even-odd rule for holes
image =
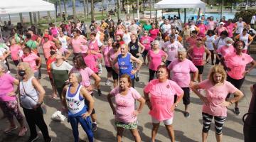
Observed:
[[[111,80],[111,76],[112,76],[112,67],[111,67],[111,63],[110,63],[110,58],[108,57],[108,53],[112,49],[112,43],[113,43],[112,38],[109,38],[107,40],[107,45],[102,47],[102,55],[103,55],[105,67],[107,70],[107,81],[105,82],[105,85],[110,84],[110,80]]]

